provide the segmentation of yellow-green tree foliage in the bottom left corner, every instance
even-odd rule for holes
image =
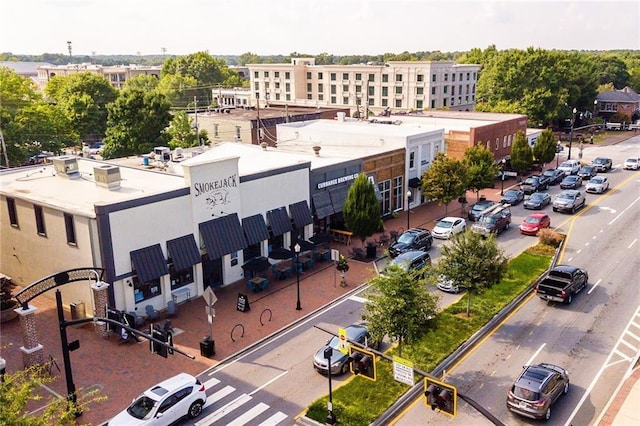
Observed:
[[[15,373],[5,374],[0,382],[0,419],[6,425],[70,425],[75,424],[76,407],[66,399],[51,398],[45,408],[32,411],[32,403],[40,401],[38,390],[55,380],[46,374],[45,366],[33,366]],[[97,391],[79,394],[77,404],[81,411],[88,410],[89,404],[105,400]],[[38,405],[44,405],[38,402]]]

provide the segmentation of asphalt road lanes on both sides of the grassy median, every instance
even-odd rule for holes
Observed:
[[[587,290],[567,306],[531,297],[447,372],[447,382],[505,424],[533,422],[509,413],[505,398],[522,366],[540,361],[562,365],[571,374],[569,394],[553,407],[553,424],[595,424],[640,348],[640,172],[621,170],[622,161],[638,155],[639,146],[637,137],[585,150],[583,161],[598,155],[613,158],[615,168],[606,174],[611,189],[603,195],[588,194],[587,207],[575,215],[553,213],[550,206],[545,209],[552,226],[568,235],[561,262],[589,271]],[[553,195],[559,189],[549,191]],[[499,199],[499,191],[495,198]],[[536,241],[517,229],[529,213],[522,205],[512,208],[511,229],[498,237],[507,255],[516,255]],[[442,244],[438,241],[431,249],[434,259]],[[359,322],[363,290],[202,373],[199,378],[207,386],[208,400],[196,424],[294,424],[312,401],[328,393],[328,380],[314,371],[312,358],[331,336],[316,326],[337,332],[338,327]],[[444,296],[443,302],[455,297]],[[334,386],[345,379],[334,377]],[[418,400],[396,424],[489,424],[462,401],[458,408],[451,420]]]

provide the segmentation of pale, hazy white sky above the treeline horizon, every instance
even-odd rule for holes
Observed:
[[[3,0],[0,52],[640,50],[638,0]]]

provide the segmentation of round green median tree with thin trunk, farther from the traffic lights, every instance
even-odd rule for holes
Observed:
[[[458,234],[451,244],[442,246],[439,274],[467,290],[467,317],[471,315],[471,294],[498,283],[507,270],[507,258],[495,235],[484,238],[468,230]]]

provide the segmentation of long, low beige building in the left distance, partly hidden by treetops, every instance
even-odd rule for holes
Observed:
[[[47,85],[53,76],[68,76],[80,72],[90,72],[103,76],[113,87],[122,89],[124,82],[137,75],[152,75],[160,78],[160,66],[114,65],[102,66],[90,63],[67,65],[41,65],[38,67],[38,83],[40,87]]]

